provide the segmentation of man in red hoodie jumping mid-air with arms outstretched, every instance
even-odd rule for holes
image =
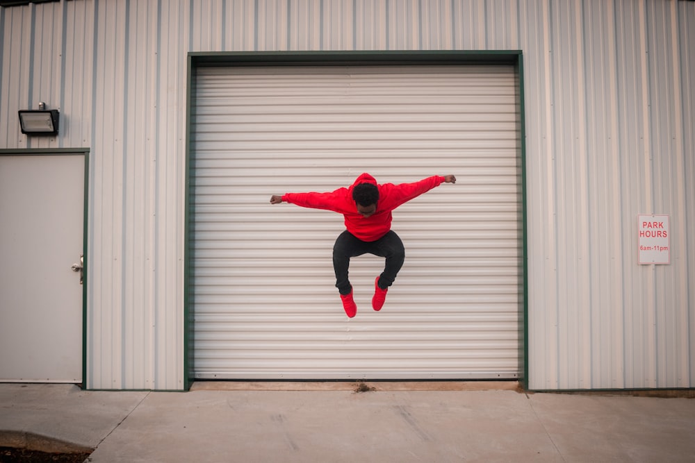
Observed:
[[[286,202],[343,214],[347,230],[338,236],[333,246],[333,268],[345,314],[352,318],[357,314],[357,304],[352,298],[352,285],[347,278],[350,258],[366,253],[386,258],[384,271],[374,281],[372,298],[372,308],[381,310],[386,301],[386,292],[393,285],[405,260],[403,242],[391,230],[391,211],[442,183],[456,183],[456,177],[432,176],[415,183],[378,185],[370,174],[361,174],[349,188],[338,188],[327,193],[274,194],[270,196],[270,204]]]

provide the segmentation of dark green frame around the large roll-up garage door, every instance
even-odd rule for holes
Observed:
[[[523,98],[523,53],[521,50],[505,51],[250,51],[250,52],[189,52],[186,96],[186,185],[185,185],[185,214],[184,214],[184,246],[183,246],[183,374],[184,389],[190,389],[193,378],[190,378],[193,367],[193,240],[191,219],[193,203],[190,196],[195,185],[192,183],[190,170],[192,168],[193,123],[195,117],[192,108],[195,106],[195,76],[198,67],[224,66],[341,66],[341,65],[513,65],[516,72],[517,106],[520,114],[518,140],[518,160],[521,170],[521,240],[522,254],[519,267],[522,271],[519,298],[519,315],[523,320],[523,330],[519,345],[519,371],[521,385],[528,389],[528,258],[526,239],[526,148],[525,148],[525,108]]]

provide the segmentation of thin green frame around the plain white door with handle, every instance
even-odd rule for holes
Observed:
[[[28,156],[28,155],[83,155],[85,158],[84,171],[84,202],[82,214],[82,389],[87,389],[87,219],[89,212],[89,148],[24,148],[24,149],[0,149],[0,156]]]

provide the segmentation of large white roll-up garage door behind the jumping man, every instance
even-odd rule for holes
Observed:
[[[190,249],[194,378],[517,378],[521,194],[511,66],[202,67]],[[354,258],[348,319],[332,248],[343,217],[272,194],[455,174],[394,212],[406,260]]]

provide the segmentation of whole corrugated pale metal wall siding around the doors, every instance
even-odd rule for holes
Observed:
[[[0,7],[0,146],[90,147],[88,386],[179,389],[188,51],[521,49],[530,387],[693,387],[693,31],[678,0]],[[38,101],[58,137],[19,132]],[[637,265],[641,212],[671,265]]]

